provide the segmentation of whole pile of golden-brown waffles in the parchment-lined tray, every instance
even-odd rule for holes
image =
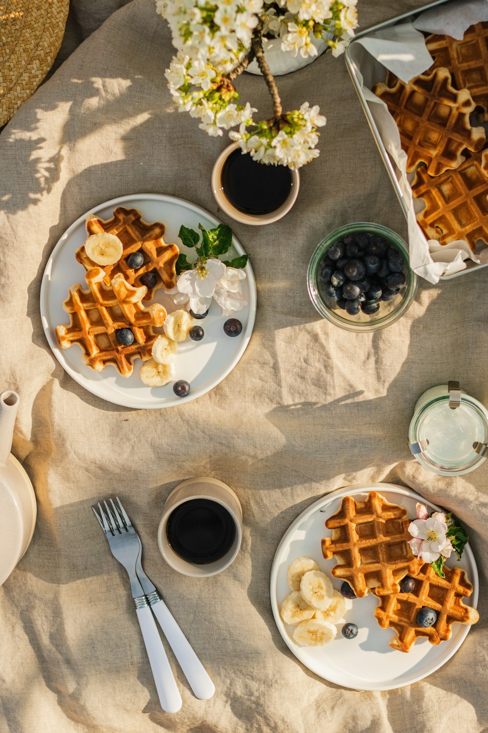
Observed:
[[[417,221],[429,239],[488,244],[488,23],[470,26],[462,40],[426,39],[434,63],[408,84],[388,73],[373,92],[397,122],[413,196],[424,208]]]

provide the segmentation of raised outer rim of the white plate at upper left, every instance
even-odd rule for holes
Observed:
[[[222,222],[213,214],[211,214],[206,209],[203,209],[203,207],[198,206],[197,204],[193,204],[192,202],[187,201],[187,199],[181,199],[179,196],[170,196],[169,194],[124,194],[124,196],[116,196],[115,199],[109,199],[108,201],[102,202],[101,204],[97,204],[94,207],[91,207],[86,213],[82,214],[81,216],[78,216],[78,218],[68,226],[68,228],[64,231],[64,233],[59,237],[59,240],[56,242],[56,245],[53,247],[52,251],[50,252],[48,262],[46,262],[46,266],[44,268],[44,271],[42,273],[42,280],[41,280],[41,289],[40,289],[40,314],[41,314],[41,322],[42,322],[42,328],[45,333],[45,337],[48,340],[48,345],[50,347],[50,350],[53,352],[56,359],[59,361],[59,364],[61,364],[61,367],[63,367],[64,371],[67,372],[67,374],[72,377],[72,379],[75,380],[80,386],[82,386],[86,391],[91,392],[91,394],[94,394],[95,397],[100,397],[100,399],[104,399],[105,402],[110,402],[113,405],[119,405],[120,407],[125,408],[135,408],[138,410],[154,410],[154,409],[162,409],[162,408],[170,408],[174,407],[175,405],[182,405],[185,402],[191,402],[193,399],[197,399],[198,397],[201,397],[203,394],[206,394],[207,392],[211,391],[214,387],[217,386],[222,380],[227,377],[230,372],[236,367],[236,364],[239,363],[242,355],[244,354],[244,351],[247,349],[247,345],[249,344],[249,340],[252,335],[252,330],[254,328],[255,323],[255,315],[256,315],[256,308],[257,308],[257,292],[256,292],[256,282],[255,282],[255,276],[252,271],[252,266],[250,262],[247,262],[245,272],[247,276],[247,281],[249,284],[249,316],[247,319],[247,325],[244,330],[244,334],[242,334],[241,338],[241,344],[239,346],[239,349],[236,352],[236,355],[230,361],[230,364],[228,365],[227,369],[224,369],[223,372],[219,375],[219,378],[217,380],[211,380],[210,386],[203,386],[195,391],[190,391],[190,393],[187,395],[187,397],[176,397],[174,399],[171,399],[169,402],[160,403],[159,401],[155,400],[154,404],[151,405],[138,405],[135,402],[132,402],[129,397],[127,399],[124,399],[123,396],[120,397],[120,399],[108,399],[103,393],[103,380],[100,380],[100,382],[91,382],[90,380],[87,380],[81,372],[78,372],[76,369],[73,369],[70,364],[67,363],[67,361],[64,359],[64,354],[62,353],[61,348],[59,347],[59,344],[55,339],[53,338],[53,335],[51,334],[51,327],[48,323],[48,318],[46,316],[47,312],[47,298],[48,298],[48,273],[50,273],[50,270],[52,269],[53,265],[53,257],[56,255],[56,252],[61,249],[62,246],[64,246],[64,243],[66,242],[67,238],[70,236],[71,232],[79,226],[81,223],[83,223],[86,220],[86,217],[89,216],[89,214],[97,213],[98,211],[104,209],[105,207],[116,207],[119,205],[123,205],[124,202],[127,201],[161,201],[161,202],[170,202],[175,203],[178,202],[179,204],[183,205],[184,207],[189,207],[192,209],[192,211],[201,213],[206,218],[210,219],[212,222],[215,222],[215,226],[218,226],[218,224],[221,224]],[[238,254],[247,254],[244,251],[244,248],[242,247],[241,243],[237,239],[235,235],[233,235],[233,246],[236,248],[236,251]],[[87,367],[89,368],[89,367]]]

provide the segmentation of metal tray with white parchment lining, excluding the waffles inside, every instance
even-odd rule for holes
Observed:
[[[420,13],[413,23],[404,21],[360,37],[350,46],[350,58],[359,71],[364,97],[380,138],[394,163],[399,188],[408,209],[410,266],[419,276],[432,283],[438,282],[440,276],[464,270],[468,258],[477,263],[488,262],[488,246],[478,244],[473,253],[463,240],[445,246],[436,240],[427,240],[416,221],[415,211],[421,210],[423,204],[412,196],[410,181],[413,174],[407,174],[406,171],[407,155],[400,145],[397,125],[386,104],[371,92],[371,88],[377,81],[385,81],[385,69],[407,82],[432,65],[432,56],[427,51],[420,31],[462,38],[465,30],[479,21],[488,21],[488,0],[456,0]]]

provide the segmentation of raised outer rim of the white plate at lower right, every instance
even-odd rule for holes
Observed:
[[[331,676],[326,677],[323,674],[323,671],[318,671],[316,668],[312,668],[312,666],[309,664],[308,660],[305,660],[303,658],[303,655],[300,654],[301,647],[296,646],[291,641],[290,637],[288,636],[288,633],[285,631],[284,624],[282,622],[281,616],[279,615],[279,608],[278,608],[278,602],[277,602],[277,592],[276,592],[276,586],[277,586],[277,575],[279,570],[279,553],[282,549],[283,545],[285,545],[285,542],[287,542],[288,537],[290,534],[293,533],[293,531],[296,529],[296,527],[304,520],[308,519],[310,515],[312,515],[314,512],[316,512],[319,508],[326,507],[327,504],[331,504],[331,501],[334,501],[337,498],[342,498],[344,496],[354,496],[354,494],[359,493],[366,493],[370,490],[378,490],[381,492],[381,490],[391,493],[398,493],[400,496],[408,496],[409,498],[416,499],[417,501],[421,501],[424,504],[427,504],[428,507],[432,507],[432,509],[435,512],[442,512],[444,509],[442,507],[438,507],[437,504],[432,504],[431,501],[427,501],[426,498],[421,496],[420,494],[416,493],[416,491],[413,491],[413,489],[410,489],[405,486],[399,486],[397,484],[389,484],[389,483],[372,483],[372,484],[354,484],[351,486],[346,486],[344,488],[336,489],[334,491],[331,491],[331,493],[325,494],[324,496],[320,497],[317,501],[314,501],[313,504],[310,504],[307,509],[304,509],[301,514],[299,514],[298,517],[296,517],[295,520],[290,524],[288,529],[285,531],[285,534],[283,534],[282,538],[279,541],[278,547],[276,552],[274,553],[273,562],[271,564],[271,575],[270,575],[270,582],[269,582],[269,590],[270,590],[270,599],[271,599],[271,610],[273,611],[274,616],[274,622],[277,625],[277,629],[280,633],[280,635],[283,638],[283,641],[285,641],[285,644],[287,645],[288,649],[293,653],[293,655],[303,664],[307,669],[312,671],[314,674],[316,674],[318,677],[321,677],[322,679],[326,679],[327,682],[332,682],[334,685],[338,685],[339,687],[345,688],[346,685],[344,685],[343,682],[337,682],[336,679],[334,679],[334,675],[331,674]],[[470,582],[473,585],[473,593],[470,595],[470,601],[473,608],[476,608],[478,605],[478,589],[479,589],[479,576],[478,576],[478,566],[476,565],[476,559],[473,554],[473,550],[471,550],[469,542],[465,546],[465,549],[463,550],[463,553],[466,553],[466,556],[468,556],[470,563],[473,565],[473,578],[470,578]],[[439,663],[435,663],[432,665],[432,667],[429,666],[428,671],[420,671],[418,675],[416,675],[413,679],[408,679],[408,681],[405,682],[398,682],[392,684],[392,685],[379,685],[372,683],[371,685],[361,685],[361,687],[358,687],[357,685],[351,685],[349,689],[351,690],[367,690],[367,691],[376,691],[376,692],[383,692],[386,690],[397,690],[398,688],[402,687],[408,687],[408,685],[413,685],[414,682],[418,682],[420,679],[424,679],[424,677],[428,677],[429,674],[432,674],[432,672],[435,672],[440,667],[442,667],[448,660],[451,659],[451,657],[457,652],[459,647],[461,647],[463,641],[465,641],[466,636],[468,636],[468,632],[470,630],[470,626],[466,625],[460,633],[460,638],[452,644],[452,649],[448,652],[448,655],[440,660]],[[448,639],[446,641],[443,641],[443,644],[448,644],[451,639]],[[444,647],[445,648],[445,647]],[[399,652],[401,653],[401,652]]]

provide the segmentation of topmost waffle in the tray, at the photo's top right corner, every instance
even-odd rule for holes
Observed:
[[[476,106],[483,108],[481,122],[488,121],[488,23],[476,23],[462,40],[432,34],[425,41],[434,64],[446,67],[457,89],[468,89]]]

